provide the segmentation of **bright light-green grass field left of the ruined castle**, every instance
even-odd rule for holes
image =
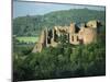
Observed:
[[[38,37],[30,37],[30,36],[22,36],[22,37],[16,37],[19,42],[24,42],[24,43],[36,43]]]

